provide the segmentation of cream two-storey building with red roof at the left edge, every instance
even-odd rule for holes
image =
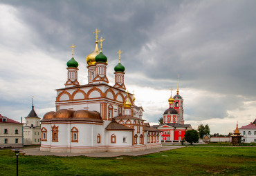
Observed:
[[[0,148],[23,146],[23,124],[0,115]]]

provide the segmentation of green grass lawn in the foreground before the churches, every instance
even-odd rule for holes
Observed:
[[[16,175],[11,150],[0,150],[0,175]],[[21,155],[19,175],[256,175],[256,148],[195,146],[123,159]]]

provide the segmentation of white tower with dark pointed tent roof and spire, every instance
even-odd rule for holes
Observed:
[[[25,117],[26,124],[23,128],[24,131],[24,145],[39,145],[41,144],[41,126],[40,118],[37,116],[34,110],[34,104],[32,110]]]

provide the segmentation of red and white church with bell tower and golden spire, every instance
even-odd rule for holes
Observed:
[[[171,89],[172,90],[172,89]],[[162,141],[181,141],[187,130],[191,130],[190,124],[184,124],[183,119],[183,98],[179,95],[179,75],[177,94],[168,99],[169,108],[163,113],[163,124],[153,127],[161,130]]]

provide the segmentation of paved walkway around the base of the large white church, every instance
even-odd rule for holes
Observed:
[[[143,151],[137,152],[127,152],[127,153],[113,153],[113,152],[102,152],[102,153],[52,153],[52,152],[42,152],[39,147],[37,148],[24,148],[20,152],[24,155],[34,155],[34,156],[61,156],[61,157],[75,157],[75,156],[86,156],[86,157],[119,157],[119,156],[140,156],[147,155],[150,153],[159,153],[165,150],[173,150],[176,148],[183,148],[184,146],[162,146],[160,148],[151,148]]]

